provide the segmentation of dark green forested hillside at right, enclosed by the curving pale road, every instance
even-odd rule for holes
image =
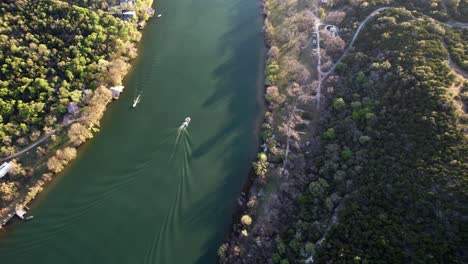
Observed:
[[[468,145],[445,34],[400,9],[359,37],[326,84],[322,147],[277,263],[466,261]]]

